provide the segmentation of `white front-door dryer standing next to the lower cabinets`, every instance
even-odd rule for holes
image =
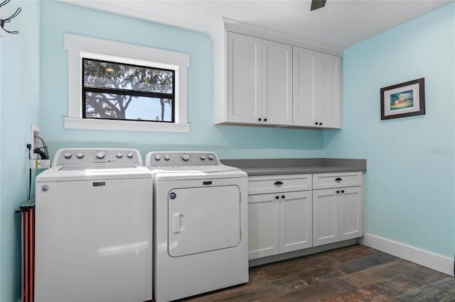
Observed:
[[[212,152],[149,152],[154,298],[173,301],[248,281],[247,174]]]

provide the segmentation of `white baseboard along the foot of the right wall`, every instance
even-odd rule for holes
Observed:
[[[387,254],[423,265],[424,267],[429,267],[438,272],[454,276],[454,259],[368,233],[365,233],[362,238],[359,238],[358,242],[375,250],[380,250],[381,252],[386,252]]]

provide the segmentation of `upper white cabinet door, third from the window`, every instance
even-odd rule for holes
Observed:
[[[318,122],[318,52],[294,47],[293,57],[293,123],[315,126]]]

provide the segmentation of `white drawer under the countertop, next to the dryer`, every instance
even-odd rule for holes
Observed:
[[[248,195],[311,190],[311,174],[248,177]]]

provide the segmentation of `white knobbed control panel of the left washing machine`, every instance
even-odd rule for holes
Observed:
[[[136,149],[117,148],[65,148],[55,152],[54,166],[92,166],[142,164],[142,157]]]

